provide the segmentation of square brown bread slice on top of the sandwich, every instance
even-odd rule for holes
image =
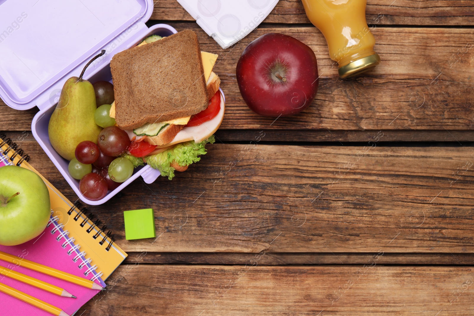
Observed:
[[[121,129],[187,117],[208,106],[201,49],[191,30],[114,55],[110,71]]]

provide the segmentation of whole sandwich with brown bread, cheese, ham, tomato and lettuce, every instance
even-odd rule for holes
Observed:
[[[127,158],[171,180],[214,143],[224,117],[218,55],[201,52],[191,30],[150,36],[112,58],[115,101],[110,117],[132,141]]]

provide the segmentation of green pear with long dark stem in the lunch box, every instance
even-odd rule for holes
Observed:
[[[94,121],[97,109],[94,87],[91,82],[83,80],[82,75],[89,64],[104,53],[102,51],[94,57],[84,67],[80,77],[71,77],[64,83],[59,102],[49,119],[49,141],[64,159],[72,160],[76,146],[82,141],[97,144],[102,128]]]

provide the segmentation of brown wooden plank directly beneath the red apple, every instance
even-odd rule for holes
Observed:
[[[173,26],[178,30],[196,27],[190,23]],[[474,77],[470,72],[472,49],[456,57],[459,58],[457,63],[453,56],[458,48],[462,50],[466,43],[472,42],[469,29],[376,28],[376,51],[381,55],[382,64],[365,76],[350,80],[338,78],[337,67],[332,66],[328,58],[326,40],[314,27],[258,29],[228,50],[221,49],[201,28],[194,30],[200,36],[201,49],[219,54],[215,71],[222,80],[227,101],[221,129],[445,132],[474,127],[473,99],[466,97],[474,88]],[[276,121],[273,117],[260,117],[247,108],[235,76],[238,58],[246,45],[268,32],[295,36],[310,45],[318,57],[321,75],[313,104],[299,115],[280,117]],[[439,43],[443,49],[439,48]],[[18,115],[20,122],[12,119],[12,113],[17,111],[5,113],[0,118],[2,129],[30,129],[28,121],[34,110]]]

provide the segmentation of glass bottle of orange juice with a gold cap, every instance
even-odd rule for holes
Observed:
[[[366,0],[302,0],[311,23],[323,33],[329,56],[342,78],[364,72],[380,62],[375,38],[365,21]]]

